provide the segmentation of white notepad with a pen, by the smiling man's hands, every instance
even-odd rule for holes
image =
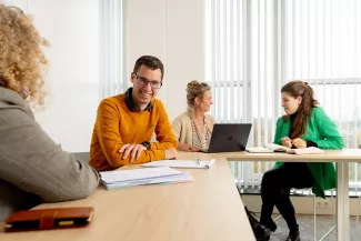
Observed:
[[[210,161],[197,161],[191,160],[164,160],[164,161],[153,161],[142,164],[144,168],[156,168],[156,167],[170,167],[170,168],[191,168],[191,169],[210,169],[214,164],[215,160]]]

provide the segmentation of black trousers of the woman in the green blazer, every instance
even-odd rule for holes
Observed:
[[[264,173],[261,184],[262,210],[260,222],[272,223],[274,205],[282,214],[290,231],[298,231],[294,208],[290,200],[291,188],[310,188],[313,177],[304,162],[288,162]]]

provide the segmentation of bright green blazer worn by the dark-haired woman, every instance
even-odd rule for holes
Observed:
[[[291,121],[284,122],[282,118],[277,121],[273,143],[282,144],[281,139],[289,137]],[[313,141],[320,149],[342,149],[344,145],[333,121],[324,113],[322,108],[313,108],[307,124],[305,134],[302,140]],[[274,168],[282,165],[284,162],[277,162]],[[324,190],[335,188],[335,170],[333,163],[318,162],[307,163],[311,170],[314,184],[312,191],[318,197],[324,197]]]

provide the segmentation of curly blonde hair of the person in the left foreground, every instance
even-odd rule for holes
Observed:
[[[16,7],[0,4],[0,87],[42,106],[48,64],[42,47],[48,46],[30,17]]]

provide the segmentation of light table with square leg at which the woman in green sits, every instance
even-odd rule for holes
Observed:
[[[350,241],[349,163],[361,162],[361,149],[325,150],[322,154],[247,153],[229,152],[208,154],[203,158],[228,161],[283,161],[337,163],[337,237]],[[360,237],[361,240],[361,237]]]

